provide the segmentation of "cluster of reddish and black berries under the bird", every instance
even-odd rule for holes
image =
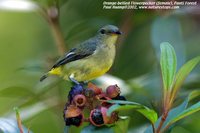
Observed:
[[[80,126],[82,122],[90,122],[94,126],[113,124],[118,120],[118,112],[107,116],[106,112],[113,104],[107,100],[126,100],[120,95],[117,85],[110,85],[103,90],[92,83],[87,87],[77,84],[71,87],[68,94],[68,102],[64,109],[64,120],[66,126]],[[89,118],[84,117],[84,112],[89,110]]]

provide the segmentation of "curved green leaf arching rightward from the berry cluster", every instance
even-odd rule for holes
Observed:
[[[145,116],[148,120],[150,120],[151,123],[155,123],[158,119],[157,113],[154,110],[151,110],[142,104],[130,102],[130,101],[121,101],[121,100],[109,100],[107,102],[115,103],[108,109],[107,111],[108,116],[110,116],[113,111],[135,109],[136,111],[141,113],[143,116]]]

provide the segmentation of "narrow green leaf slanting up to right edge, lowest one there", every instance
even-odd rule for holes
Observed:
[[[166,125],[170,126],[173,123],[177,122],[178,120],[183,119],[186,116],[191,115],[197,111],[200,111],[200,102],[198,102],[198,103],[192,105],[191,107],[187,108],[186,110],[182,111],[175,118],[173,118],[171,121],[169,121]]]

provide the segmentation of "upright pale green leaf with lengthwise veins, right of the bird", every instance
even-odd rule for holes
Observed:
[[[160,49],[160,65],[162,71],[163,87],[165,90],[169,90],[172,88],[176,74],[176,53],[174,48],[168,42],[161,43]]]

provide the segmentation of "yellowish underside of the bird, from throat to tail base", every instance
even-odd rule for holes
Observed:
[[[89,81],[105,74],[113,64],[115,58],[116,36],[111,40],[101,44],[93,55],[84,59],[69,62],[63,66],[51,70],[50,74],[55,74],[69,80],[72,76],[77,81]]]

